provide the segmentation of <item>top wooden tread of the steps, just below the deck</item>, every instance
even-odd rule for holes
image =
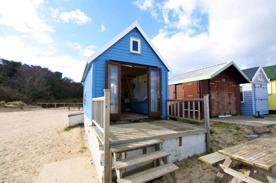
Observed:
[[[149,147],[155,144],[160,144],[163,141],[160,139],[153,139],[149,141],[140,141],[137,143],[131,143],[131,144],[122,144],[119,146],[113,146],[111,147],[112,153],[121,153],[121,152],[127,152],[127,151],[134,151],[136,149],[142,149],[145,147]]]

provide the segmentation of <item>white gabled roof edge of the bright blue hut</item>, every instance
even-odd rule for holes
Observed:
[[[108,48],[110,48],[110,46],[115,44],[118,40],[120,40],[122,37],[124,37],[127,33],[129,33],[135,27],[140,31],[140,33],[143,35],[143,37],[148,42],[148,44],[152,47],[152,49],[157,54],[157,56],[160,58],[160,60],[164,63],[164,65],[167,67],[167,69],[171,72],[172,69],[170,68],[168,63],[165,61],[165,59],[162,57],[162,55],[159,53],[159,51],[156,49],[156,47],[152,44],[152,42],[150,41],[150,38],[147,37],[147,35],[143,31],[143,29],[139,26],[137,20],[133,24],[131,24],[128,28],[123,30],[123,32],[121,32],[115,38],[113,38],[110,42],[108,42],[106,45],[104,45],[99,50],[97,50],[95,53],[93,53],[90,57],[88,57],[87,62],[88,63],[92,62],[94,59],[96,59],[99,55],[101,55],[104,51],[106,51]]]

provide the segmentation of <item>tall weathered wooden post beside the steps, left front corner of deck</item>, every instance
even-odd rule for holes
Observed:
[[[110,170],[109,122],[110,122],[110,89],[104,89],[104,183],[111,183]]]

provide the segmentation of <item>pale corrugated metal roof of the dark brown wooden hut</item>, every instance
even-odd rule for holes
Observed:
[[[250,83],[248,77],[246,77],[246,75],[239,69],[239,67],[237,67],[237,65],[233,61],[230,61],[175,75],[169,79],[169,85],[199,81],[203,79],[212,79],[231,65],[234,65],[237,70],[244,76],[244,78]]]

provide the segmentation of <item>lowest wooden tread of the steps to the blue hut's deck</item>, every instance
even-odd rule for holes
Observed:
[[[173,163],[168,163],[117,179],[117,183],[143,183],[175,172],[178,169],[179,168]]]

